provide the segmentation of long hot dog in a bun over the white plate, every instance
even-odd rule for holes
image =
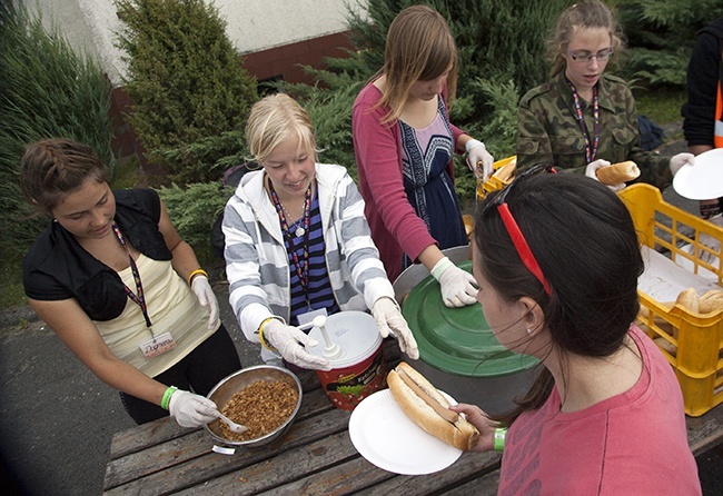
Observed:
[[[413,384],[409,385],[409,381]],[[425,431],[463,452],[472,449],[477,444],[479,439],[477,428],[464,416],[449,410],[447,398],[407,363],[402,361],[387,374],[387,384],[402,411]],[[420,389],[423,395],[415,393],[415,389]],[[423,396],[426,396],[426,400]],[[437,411],[449,419],[443,418]]]

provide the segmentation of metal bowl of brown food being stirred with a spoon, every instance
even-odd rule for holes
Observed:
[[[273,365],[244,368],[222,379],[208,394],[218,409],[245,425],[242,434],[231,433],[216,419],[204,428],[220,444],[263,446],[281,437],[301,406],[301,383],[290,370]]]

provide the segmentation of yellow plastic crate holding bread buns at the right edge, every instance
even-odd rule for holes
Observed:
[[[723,229],[665,202],[661,191],[650,185],[628,186],[618,195],[631,211],[642,245],[666,251],[671,264],[684,267],[684,274],[695,275],[691,276],[695,280],[721,286],[721,250],[703,246],[700,238],[707,235],[721,242]],[[717,259],[705,261],[709,256]],[[661,349],[675,369],[685,413],[697,417],[723,403],[723,309],[694,314],[675,305],[674,299],[657,301],[640,288],[638,296],[642,311],[637,324],[651,338],[665,339],[666,347],[674,347],[670,351],[663,346]]]

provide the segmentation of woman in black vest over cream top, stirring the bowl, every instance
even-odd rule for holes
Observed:
[[[170,411],[199,427],[218,417],[204,395],[241,368],[236,347],[158,194],[113,191],[108,176],[86,145],[28,146],[20,183],[53,219],[22,262],[28,301],[137,424]]]

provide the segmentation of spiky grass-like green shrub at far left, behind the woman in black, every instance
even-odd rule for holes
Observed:
[[[53,27],[24,6],[0,3],[0,264],[24,254],[47,219],[33,218],[18,183],[24,147],[67,137],[89,145],[115,169],[110,83]],[[19,267],[14,270],[19,272]]]

